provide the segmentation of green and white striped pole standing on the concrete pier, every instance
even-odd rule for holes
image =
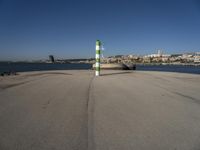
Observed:
[[[96,76],[100,75],[100,54],[101,54],[101,41],[97,40],[96,41],[96,64],[95,64]]]

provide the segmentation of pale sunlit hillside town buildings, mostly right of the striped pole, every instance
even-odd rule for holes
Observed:
[[[85,63],[94,63],[93,59],[82,61]],[[200,52],[184,54],[164,54],[158,50],[155,54],[149,55],[116,55],[102,57],[102,63],[142,63],[142,64],[200,64]]]

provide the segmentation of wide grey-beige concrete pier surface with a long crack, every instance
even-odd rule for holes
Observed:
[[[2,150],[198,150],[200,76],[91,70],[0,77]]]

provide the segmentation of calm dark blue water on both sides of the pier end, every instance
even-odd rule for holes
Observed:
[[[0,72],[25,72],[41,70],[79,70],[91,69],[91,64],[46,64],[46,63],[0,63]],[[200,66],[182,65],[137,65],[136,70],[143,71],[168,71],[200,74]]]

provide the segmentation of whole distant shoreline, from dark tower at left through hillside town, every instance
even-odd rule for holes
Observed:
[[[94,64],[95,58],[89,59],[56,59],[49,55],[45,63],[88,63]],[[162,50],[148,55],[115,55],[101,57],[101,63],[134,63],[134,64],[171,64],[171,65],[200,65],[200,52],[190,52],[184,54],[164,54]]]

